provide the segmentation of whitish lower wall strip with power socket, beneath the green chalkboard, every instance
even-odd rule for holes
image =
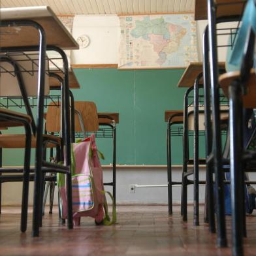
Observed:
[[[193,176],[191,176],[193,178]],[[182,168],[174,168],[173,181],[181,181]],[[200,179],[205,179],[204,168],[200,170]],[[112,181],[112,170],[104,168],[104,182]],[[138,187],[135,193],[130,193],[130,185],[162,185],[167,184],[166,168],[119,168],[116,173],[116,202],[118,204],[167,204],[167,187]],[[22,199],[22,183],[8,182],[2,185],[3,205],[20,205]],[[57,187],[56,187],[57,189]],[[111,187],[105,187],[112,192]],[[200,185],[200,202],[204,201],[204,185]],[[174,203],[180,203],[181,187],[173,187]],[[57,193],[55,194],[57,195]],[[188,200],[193,202],[193,187],[188,189]],[[57,197],[55,197],[57,204]],[[29,185],[29,204],[33,204],[33,182]]]

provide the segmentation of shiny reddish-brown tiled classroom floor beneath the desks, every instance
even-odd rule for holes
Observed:
[[[167,206],[118,206],[118,223],[95,226],[82,218],[81,226],[68,231],[58,224],[57,212],[46,214],[39,238],[31,238],[31,210],[25,234],[19,231],[20,208],[3,207],[0,217],[0,255],[231,255],[229,248],[216,248],[216,235],[207,225],[193,227],[193,208],[189,221],[182,223],[180,207],[169,217]],[[203,213],[203,208],[200,208]],[[230,217],[227,217],[230,238]],[[256,216],[248,217],[245,255],[256,255]]]

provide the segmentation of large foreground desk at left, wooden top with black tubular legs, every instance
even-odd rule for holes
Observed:
[[[56,14],[50,7],[20,7],[0,8],[0,45],[1,52],[15,51],[39,51],[39,80],[38,80],[38,111],[37,125],[37,148],[35,152],[36,168],[34,181],[34,203],[33,203],[33,227],[32,235],[39,236],[39,226],[42,214],[40,213],[40,194],[42,186],[42,166],[47,170],[57,170],[67,174],[67,190],[72,191],[71,184],[71,130],[69,114],[69,64],[63,49],[78,49],[78,43],[72,38]],[[63,133],[65,133],[64,144],[66,146],[66,165],[54,165],[46,163],[42,159],[42,132],[43,132],[43,110],[44,110],[44,72],[46,50],[54,50],[63,59]],[[65,106],[64,106],[65,105]],[[56,169],[57,168],[57,169]],[[72,194],[69,193],[68,200],[72,202]],[[68,227],[72,229],[72,205],[68,207]]]

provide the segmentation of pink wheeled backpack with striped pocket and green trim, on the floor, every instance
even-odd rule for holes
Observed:
[[[100,155],[102,155],[100,153]],[[102,155],[103,156],[103,155]],[[103,170],[99,161],[95,136],[72,144],[72,208],[74,225],[80,225],[80,218],[90,216],[96,224],[112,225],[116,222],[116,209],[112,195],[104,191]],[[57,174],[61,217],[67,218],[67,193],[65,175]],[[113,201],[112,221],[108,215],[106,193]]]

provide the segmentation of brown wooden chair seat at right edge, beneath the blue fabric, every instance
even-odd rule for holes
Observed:
[[[240,78],[240,71],[227,72],[219,76],[219,84],[223,89],[226,97],[229,97],[229,86],[231,82],[237,78]],[[256,74],[253,69],[251,69],[251,74],[249,76],[247,84],[247,94],[242,95],[242,100],[245,108],[255,108],[256,107],[256,90],[255,90]]]

